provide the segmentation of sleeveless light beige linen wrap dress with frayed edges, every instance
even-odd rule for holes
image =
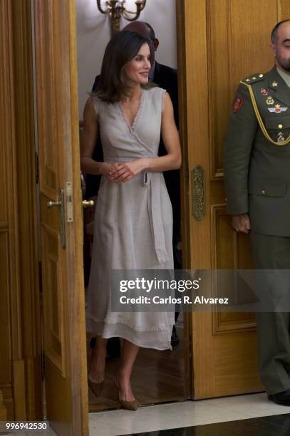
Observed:
[[[120,103],[95,97],[104,162],[157,157],[165,90],[142,89],[133,125]],[[142,172],[123,184],[101,178],[95,208],[87,290],[87,331],[119,336],[141,347],[171,348],[174,312],[110,311],[112,269],[173,269],[172,207],[162,172]]]

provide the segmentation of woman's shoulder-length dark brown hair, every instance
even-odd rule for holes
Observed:
[[[108,103],[115,103],[124,96],[128,96],[130,86],[125,83],[122,73],[123,66],[138,54],[145,43],[150,47],[151,41],[140,33],[131,31],[116,33],[105,48],[100,83],[93,95],[97,95],[100,100]],[[152,87],[151,84],[142,86],[143,88]]]

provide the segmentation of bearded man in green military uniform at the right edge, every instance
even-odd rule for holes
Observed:
[[[277,271],[290,269],[290,20],[274,27],[271,48],[274,68],[237,90],[224,168],[232,226],[250,233],[255,268]],[[288,312],[257,313],[261,381],[281,405],[290,405],[289,321]]]

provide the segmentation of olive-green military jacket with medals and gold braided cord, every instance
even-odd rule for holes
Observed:
[[[290,236],[289,135],[290,88],[276,67],[245,78],[229,118],[224,178],[228,213],[249,213],[254,232]]]

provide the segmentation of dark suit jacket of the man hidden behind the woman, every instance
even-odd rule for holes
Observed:
[[[177,70],[170,68],[169,66],[162,65],[155,62],[154,70],[154,82],[160,88],[167,90],[172,100],[172,105],[175,115],[175,123],[177,128],[178,123],[178,88],[177,88]],[[98,83],[100,82],[100,76],[95,78],[93,84],[93,91],[98,89]],[[160,137],[159,152],[158,155],[166,155],[165,145]],[[103,161],[103,150],[102,144],[100,142],[100,136],[95,145],[95,150],[93,152],[93,159],[102,162]],[[165,183],[167,186],[168,194],[172,202],[173,217],[174,217],[174,237],[178,238],[180,234],[180,170],[172,170],[164,172]],[[98,175],[86,175],[86,198],[93,197],[98,194],[98,189],[100,186],[100,176]]]

